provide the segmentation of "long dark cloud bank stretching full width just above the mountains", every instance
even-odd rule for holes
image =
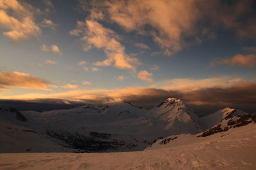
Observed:
[[[132,90],[132,89],[128,89]],[[136,106],[150,109],[157,106],[168,97],[182,99],[186,105],[193,108],[198,115],[207,115],[225,107],[236,108],[248,113],[256,113],[256,83],[242,83],[227,88],[205,88],[193,91],[163,90],[163,89],[134,89],[134,93],[118,93],[117,98],[129,101]],[[0,106],[15,107],[20,110],[56,110],[83,106],[86,103],[115,102],[116,97],[106,95],[95,99],[36,99],[31,101],[0,100]]]

